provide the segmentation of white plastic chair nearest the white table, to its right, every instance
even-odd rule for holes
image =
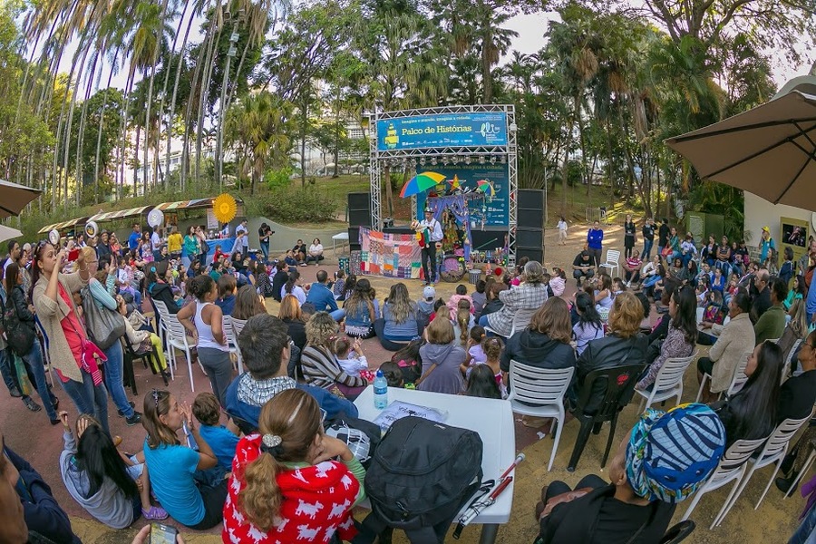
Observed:
[[[507,400],[510,401],[512,411],[535,417],[551,417],[553,421],[549,427],[550,433],[552,425],[558,425],[547,465],[548,471],[552,469],[552,462],[559,449],[565,420],[564,394],[567,393],[574,372],[574,366],[551,370],[510,360],[510,394]]]

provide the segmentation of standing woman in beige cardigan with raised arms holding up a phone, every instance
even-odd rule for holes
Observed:
[[[108,391],[92,356],[83,358],[87,341],[85,326],[76,313],[73,293],[88,285],[91,275],[85,256],[76,259],[76,272],[60,273],[65,250],[56,251],[47,241],[34,249],[31,299],[48,337],[48,355],[63,389],[79,413],[92,413],[108,434]]]

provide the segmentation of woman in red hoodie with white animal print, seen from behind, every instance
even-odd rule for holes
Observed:
[[[364,499],[365,469],[345,442],[323,432],[315,399],[278,393],[259,429],[238,442],[224,507],[225,542],[348,541],[352,509]],[[339,461],[337,460],[339,458]]]

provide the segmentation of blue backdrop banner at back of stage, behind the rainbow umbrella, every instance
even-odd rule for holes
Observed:
[[[439,172],[445,177],[435,188],[416,196],[417,219],[423,219],[423,209],[428,197],[447,197],[461,193],[483,194],[483,199],[468,200],[468,221],[471,230],[485,227],[507,227],[510,223],[510,173],[507,164],[456,164],[449,166],[424,166],[425,170]],[[483,188],[487,183],[489,187]],[[490,196],[492,194],[492,196]]]

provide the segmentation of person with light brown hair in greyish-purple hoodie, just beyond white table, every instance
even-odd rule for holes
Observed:
[[[423,375],[416,381],[416,388],[433,393],[461,393],[459,366],[465,362],[465,351],[453,335],[453,325],[446,312],[428,325],[425,339],[428,343],[420,348]]]

